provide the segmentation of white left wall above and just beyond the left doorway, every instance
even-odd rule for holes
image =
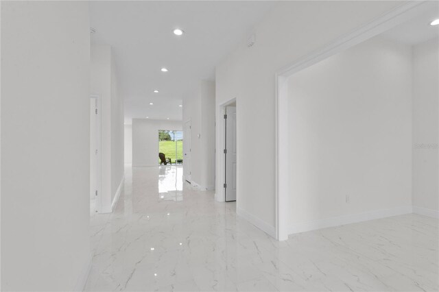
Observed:
[[[123,99],[117,94],[117,70],[111,48],[91,47],[91,94],[101,99],[102,208],[111,212],[123,179]]]

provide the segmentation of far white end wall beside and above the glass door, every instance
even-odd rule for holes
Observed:
[[[181,121],[132,119],[132,166],[158,165],[158,130],[182,131]],[[183,139],[185,136],[183,136]]]

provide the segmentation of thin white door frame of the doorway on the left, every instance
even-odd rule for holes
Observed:
[[[91,99],[96,100],[96,210],[102,213],[102,120],[101,120],[101,97],[99,95],[90,95]],[[91,158],[90,158],[91,159]]]

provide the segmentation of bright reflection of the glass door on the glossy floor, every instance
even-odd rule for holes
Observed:
[[[158,168],[158,197],[167,201],[183,200],[182,165],[161,165]]]

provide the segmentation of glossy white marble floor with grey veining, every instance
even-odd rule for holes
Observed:
[[[182,167],[126,168],[111,215],[93,215],[86,291],[438,291],[438,221],[403,215],[277,242]]]

